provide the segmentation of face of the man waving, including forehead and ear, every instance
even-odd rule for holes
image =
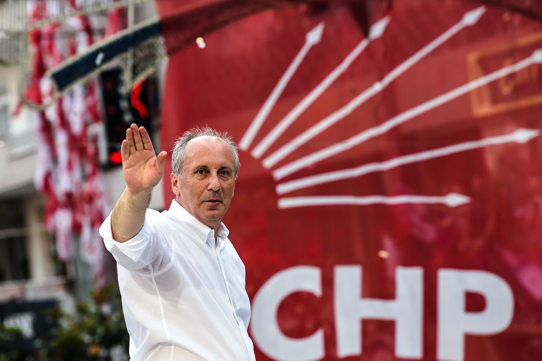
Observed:
[[[181,175],[171,174],[177,202],[203,224],[217,230],[235,187],[235,157],[222,139],[200,136],[186,144]]]

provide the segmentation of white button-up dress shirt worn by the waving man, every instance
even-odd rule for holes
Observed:
[[[177,201],[147,209],[134,238],[113,240],[111,214],[100,227],[117,260],[130,357],[140,360],[255,360],[247,327],[245,270],[221,224],[215,231]]]

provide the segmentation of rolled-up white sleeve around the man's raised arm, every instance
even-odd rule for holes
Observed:
[[[156,230],[151,220],[153,213],[158,213],[152,209],[147,209],[143,227],[138,234],[134,235],[126,242],[117,242],[113,239],[111,230],[111,214],[107,216],[100,226],[100,235],[104,239],[105,247],[114,259],[122,267],[128,270],[141,270],[148,268],[152,260],[156,259],[159,253],[162,253],[162,242],[156,242]]]

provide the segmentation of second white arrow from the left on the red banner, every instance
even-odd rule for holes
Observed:
[[[356,48],[354,48],[350,54],[344,58],[337,68],[333,69],[333,71],[328,74],[326,78],[311,91],[311,93],[307,94],[303,100],[301,100],[292,110],[289,111],[288,114],[286,114],[285,117],[283,117],[279,123],[276,124],[271,132],[269,132],[253,149],[251,152],[252,156],[259,159],[263,153],[266,152],[266,150],[269,149],[269,147],[278,139],[278,137],[281,136],[282,133],[284,133],[286,129],[288,129],[288,127],[291,126],[291,124],[298,119],[298,117],[309,106],[311,106],[311,104],[314,103],[314,101],[317,100],[318,97],[322,95],[322,93],[324,93],[324,91],[329,88],[341,74],[346,71],[346,69],[348,69],[348,67],[350,67],[350,64],[352,64],[352,62],[356,60],[360,54],[362,54],[367,45],[369,45],[372,40],[375,40],[384,34],[384,30],[386,29],[389,21],[390,18],[386,16],[373,24],[370,30],[370,36],[362,40],[356,46]]]

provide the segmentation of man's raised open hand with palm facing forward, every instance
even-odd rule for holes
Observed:
[[[150,192],[164,175],[167,152],[154,153],[151,138],[144,127],[132,124],[120,146],[122,175],[132,193]]]

